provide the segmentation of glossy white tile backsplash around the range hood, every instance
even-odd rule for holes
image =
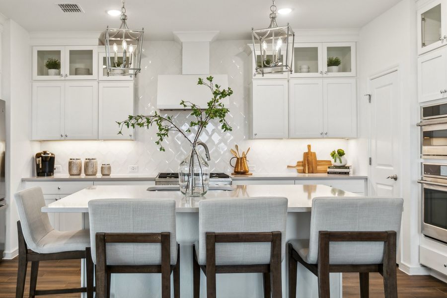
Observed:
[[[348,147],[344,139],[327,140],[249,140],[248,100],[251,80],[249,57],[243,51],[248,41],[215,41],[210,46],[211,74],[228,74],[228,84],[234,90],[230,97],[227,116],[232,132],[222,132],[218,123],[210,123],[200,140],[210,149],[211,170],[231,172],[229,152],[235,144],[239,149],[251,147],[247,158],[250,170],[259,173],[294,172],[287,165],[302,160],[307,144],[312,144],[317,158],[330,159],[333,149]],[[173,41],[147,42],[142,59],[142,72],[136,79],[136,107],[139,114],[155,110],[158,74],[181,74],[181,45]],[[204,77],[205,75],[203,75]],[[181,99],[179,98],[179,101]],[[163,111],[172,116],[181,127],[191,121],[188,111]],[[117,119],[123,120],[123,119]],[[118,131],[118,127],[117,127]],[[154,144],[155,128],[137,129],[135,141],[57,141],[41,142],[42,150],[56,154],[56,164],[62,165],[62,173],[68,173],[71,157],[96,157],[98,163],[110,163],[112,173],[127,174],[130,165],[138,165],[139,174],[155,174],[178,170],[178,164],[189,152],[189,144],[180,134],[171,133],[165,141],[165,152]],[[200,149],[202,150],[202,149]],[[242,152],[241,152],[242,153]],[[349,160],[350,152],[347,152]]]

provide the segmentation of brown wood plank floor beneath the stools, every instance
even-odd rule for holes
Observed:
[[[29,277],[30,265],[28,265]],[[399,298],[447,298],[447,284],[431,276],[409,276],[397,271]],[[15,297],[17,260],[0,262],[0,298]],[[78,260],[41,262],[37,281],[40,290],[77,288],[80,286],[80,262]],[[29,279],[26,281],[25,297],[28,297]],[[79,298],[79,294],[39,297]],[[343,298],[359,298],[359,275],[343,274]],[[370,274],[370,298],[383,298],[383,282],[378,273]]]

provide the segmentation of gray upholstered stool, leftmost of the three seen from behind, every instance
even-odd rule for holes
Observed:
[[[112,273],[161,273],[161,297],[170,298],[172,271],[180,297],[175,201],[93,200],[88,215],[97,298],[110,297]]]

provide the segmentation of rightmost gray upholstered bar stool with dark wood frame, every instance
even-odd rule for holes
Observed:
[[[330,272],[359,272],[362,298],[369,297],[369,273],[379,272],[385,298],[397,298],[402,205],[395,198],[313,199],[310,239],[288,244],[289,298],[297,297],[297,262],[318,277],[320,298],[330,297]]]

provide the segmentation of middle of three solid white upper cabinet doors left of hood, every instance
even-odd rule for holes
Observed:
[[[98,138],[98,83],[67,82],[65,92],[67,140]]]

